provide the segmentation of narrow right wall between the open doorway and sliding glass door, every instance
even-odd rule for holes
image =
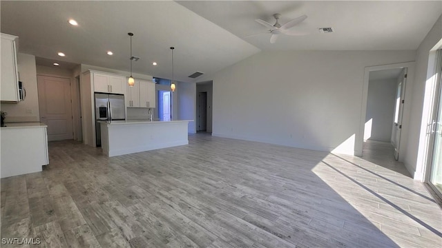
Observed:
[[[425,39],[416,52],[416,74],[412,87],[412,112],[410,116],[410,132],[408,135],[407,152],[405,153],[405,166],[417,180],[423,180],[426,162],[427,121],[428,112],[424,110],[424,93],[427,87],[429,73],[429,54],[434,45],[442,39],[442,16],[434,23]],[[431,67],[432,65],[430,65]],[[426,99],[428,102],[429,99]],[[426,106],[428,107],[428,106]],[[426,108],[425,107],[425,108]]]

